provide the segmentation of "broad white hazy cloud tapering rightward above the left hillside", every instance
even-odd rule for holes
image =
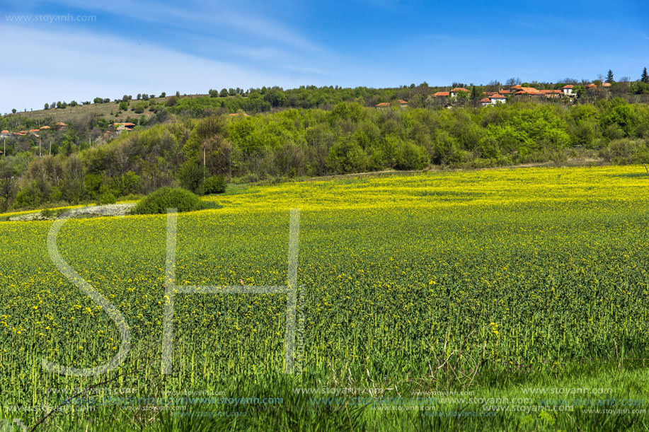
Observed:
[[[288,85],[268,70],[216,62],[119,37],[4,26],[11,35],[4,56],[18,59],[0,68],[0,112],[39,109],[53,100],[117,98],[142,92],[205,93],[214,86]]]

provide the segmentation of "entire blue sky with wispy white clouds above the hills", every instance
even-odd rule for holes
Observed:
[[[0,52],[0,113],[224,87],[592,80],[608,69],[637,79],[649,67],[649,8],[641,1],[0,0]]]

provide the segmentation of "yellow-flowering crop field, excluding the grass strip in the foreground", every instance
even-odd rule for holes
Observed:
[[[176,284],[287,284],[289,210],[300,209],[304,317],[296,361],[372,380],[427,376],[462,351],[493,367],[648,354],[649,175],[642,167],[529,168],[238,187],[220,209],[178,216]],[[0,404],[102,378],[120,348],[102,308],[50,261],[51,221],[0,223]],[[67,221],[59,252],[159,349],[166,216]],[[241,281],[241,282],[240,282]],[[218,389],[282,373],[286,295],[178,294],[168,389]],[[159,352],[133,351],[139,382]],[[138,351],[139,352],[139,351]],[[504,366],[503,366],[504,365]],[[112,376],[112,375],[111,375]],[[6,414],[6,413],[5,413]]]

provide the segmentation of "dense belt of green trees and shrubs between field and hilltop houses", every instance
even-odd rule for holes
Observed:
[[[91,117],[38,138],[13,140],[0,158],[0,209],[110,202],[173,185],[206,193],[206,180],[218,175],[255,182],[430,165],[562,162],[577,156],[649,163],[649,106],[626,98],[510,100],[478,108],[471,95],[464,108],[447,110],[431,103],[431,89],[424,85],[316,90],[177,95],[156,103],[146,119],[134,118],[139,125],[115,139],[102,139],[110,122]],[[373,107],[395,98],[407,99],[409,106]],[[0,129],[38,126],[18,116],[0,122]]]

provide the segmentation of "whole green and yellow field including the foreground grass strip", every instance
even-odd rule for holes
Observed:
[[[98,376],[44,370],[105,363],[120,331],[52,263],[51,221],[1,222],[1,416],[34,426],[96,385],[149,399],[90,390],[39,430],[646,430],[648,186],[642,167],[530,168],[208,197],[222,208],[178,216],[178,286],[286,285],[300,210],[290,374],[284,293],[176,294],[161,373],[163,215],[64,223],[60,255],[123,315],[130,351]],[[183,392],[282,402],[163,409]]]

